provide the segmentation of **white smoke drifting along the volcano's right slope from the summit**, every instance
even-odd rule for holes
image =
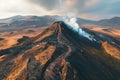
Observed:
[[[69,26],[69,28],[77,32],[79,35],[82,35],[91,41],[96,41],[94,38],[91,37],[92,36],[91,34],[85,32],[80,28],[75,17],[62,17],[61,20],[64,21]]]

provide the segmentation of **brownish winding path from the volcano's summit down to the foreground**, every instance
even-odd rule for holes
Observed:
[[[62,76],[65,76],[65,75],[62,75],[63,72],[62,73],[60,72],[60,69],[61,69],[60,66],[63,65],[63,62],[65,62],[65,58],[70,55],[72,49],[71,49],[71,46],[67,45],[61,40],[62,39],[62,28],[60,24],[61,23],[57,24],[57,27],[55,30],[58,33],[57,40],[58,40],[58,43],[65,45],[68,48],[68,50],[65,52],[65,55],[57,57],[53,62],[50,63],[50,65],[46,68],[43,80],[48,80],[48,79],[61,80],[63,78]]]

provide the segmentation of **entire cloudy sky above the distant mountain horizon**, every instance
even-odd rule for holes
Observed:
[[[0,19],[61,15],[100,20],[120,16],[120,0],[0,0]]]

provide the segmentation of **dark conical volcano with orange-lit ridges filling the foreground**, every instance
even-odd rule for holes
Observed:
[[[0,51],[0,80],[120,80],[120,41],[62,21]]]

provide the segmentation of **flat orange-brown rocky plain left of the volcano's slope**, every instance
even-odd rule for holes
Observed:
[[[12,47],[17,44],[22,37],[37,36],[46,28],[47,27],[24,28],[20,30],[0,32],[0,50]]]

